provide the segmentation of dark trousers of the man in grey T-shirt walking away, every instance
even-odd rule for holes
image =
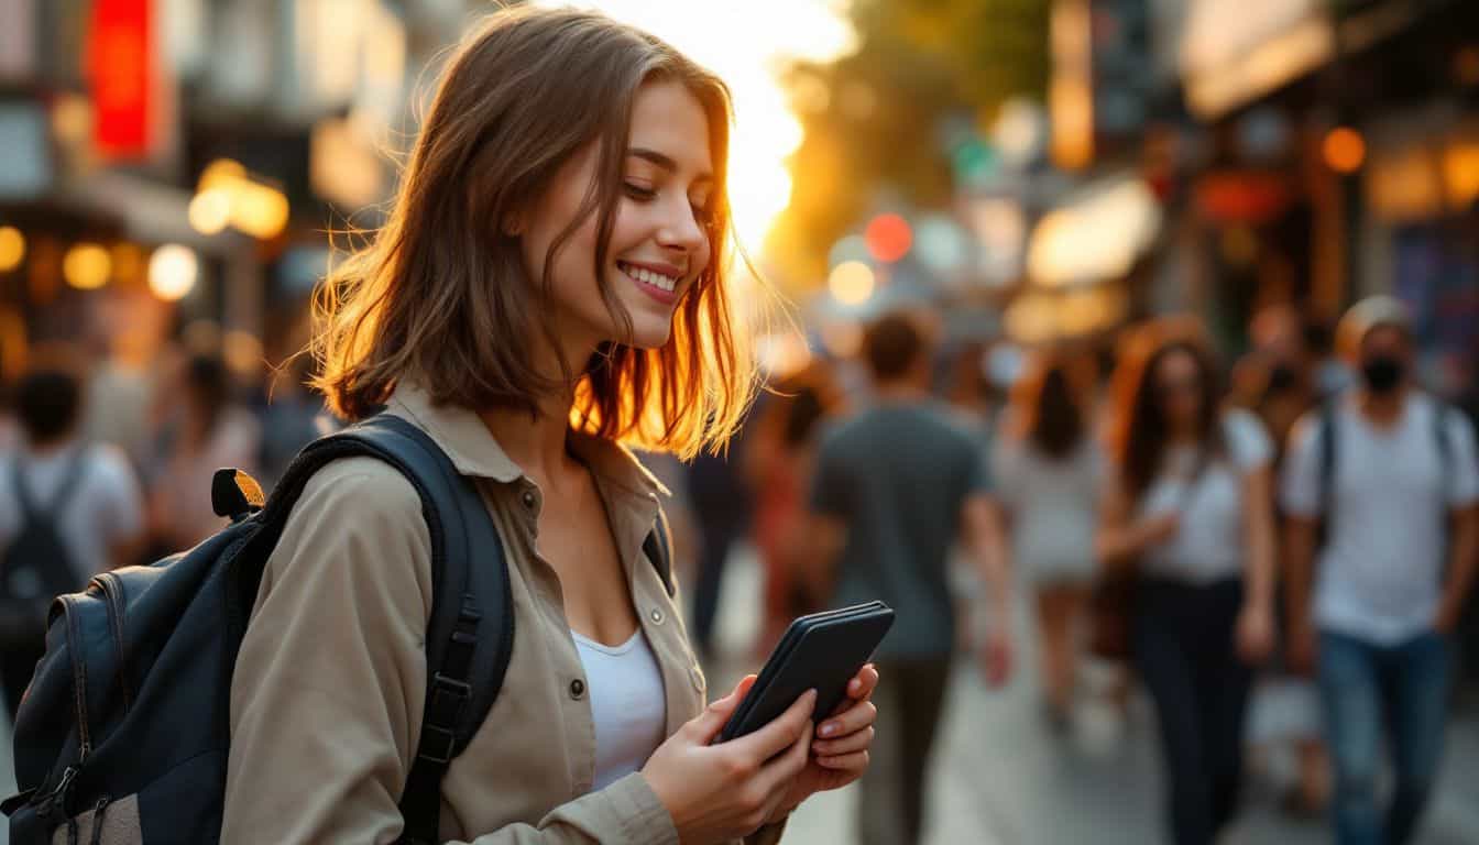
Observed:
[[[950,657],[879,660],[877,734],[858,796],[864,845],[917,845],[924,827],[924,771],[945,706]]]

